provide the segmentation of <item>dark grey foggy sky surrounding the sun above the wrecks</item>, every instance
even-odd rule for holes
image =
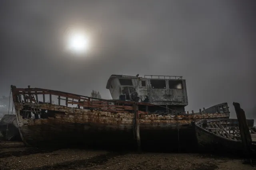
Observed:
[[[255,2],[1,0],[0,96],[13,84],[111,98],[111,74],[177,75],[186,79],[186,110],[228,102],[233,111],[240,102],[252,113]],[[91,38],[82,56],[64,51],[73,28]]]

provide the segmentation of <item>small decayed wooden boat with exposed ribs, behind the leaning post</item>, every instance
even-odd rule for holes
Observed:
[[[247,119],[252,141],[256,141],[254,120]],[[192,122],[199,149],[213,152],[243,152],[237,119],[208,119]],[[255,145],[254,145],[255,146]]]

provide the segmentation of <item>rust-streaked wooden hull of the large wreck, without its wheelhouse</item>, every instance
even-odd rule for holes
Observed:
[[[20,135],[24,143],[31,146],[128,147],[138,145],[140,137],[142,148],[191,150],[196,146],[191,121],[229,117],[229,113],[148,113],[140,108],[147,110],[150,104],[91,101],[86,96],[45,89],[12,88],[12,93]],[[43,102],[39,102],[39,96],[32,98],[34,94],[50,94],[50,101],[56,95],[59,104],[45,102],[45,96]],[[61,97],[66,100],[64,106],[60,104]]]

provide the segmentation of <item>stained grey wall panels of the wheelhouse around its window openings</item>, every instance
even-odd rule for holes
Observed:
[[[121,84],[119,79],[132,80],[131,84]],[[142,81],[145,82],[142,85]],[[165,87],[154,87],[152,81],[162,81]],[[170,81],[181,82],[182,88],[173,88]],[[157,83],[156,83],[157,84]],[[138,99],[138,102],[145,102],[154,105],[187,106],[188,96],[186,91],[186,80],[181,76],[110,76],[107,86],[114,99],[132,100]],[[134,96],[134,98],[133,98]],[[136,102],[136,101],[135,101]]]

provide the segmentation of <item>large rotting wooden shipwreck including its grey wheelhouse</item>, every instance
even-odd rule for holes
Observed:
[[[124,143],[134,143],[140,148],[151,143],[191,147],[196,141],[192,121],[229,118],[227,103],[186,113],[188,96],[182,76],[111,75],[106,88],[112,100],[11,86],[22,141],[33,146],[127,147]]]

